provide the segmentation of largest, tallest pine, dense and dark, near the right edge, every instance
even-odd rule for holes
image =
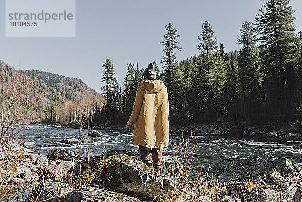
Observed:
[[[256,15],[256,28],[261,34],[261,56],[264,65],[264,88],[274,108],[282,101],[290,101],[296,89],[296,48],[294,10],[290,0],[269,0]],[[288,106],[288,103],[286,104]]]

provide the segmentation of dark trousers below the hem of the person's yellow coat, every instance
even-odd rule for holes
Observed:
[[[148,166],[154,166],[155,169],[161,170],[163,148],[148,148],[139,145],[139,151],[142,161]]]

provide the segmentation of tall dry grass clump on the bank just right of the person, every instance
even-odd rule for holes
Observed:
[[[223,191],[223,185],[218,182],[211,168],[202,173],[197,165],[196,149],[198,141],[195,135],[173,143],[164,152],[163,174],[176,179],[177,188],[165,199],[169,202],[199,201],[200,196],[215,198]]]

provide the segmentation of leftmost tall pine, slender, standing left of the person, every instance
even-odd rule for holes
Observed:
[[[113,72],[113,64],[111,63],[110,59],[106,59],[103,66],[103,73],[102,73],[102,82],[105,82],[105,86],[101,88],[103,91],[103,95],[106,97],[106,105],[105,105],[105,115],[107,116],[107,109],[108,109],[108,98],[109,98],[109,92],[111,88],[113,87],[114,82],[114,72]]]

